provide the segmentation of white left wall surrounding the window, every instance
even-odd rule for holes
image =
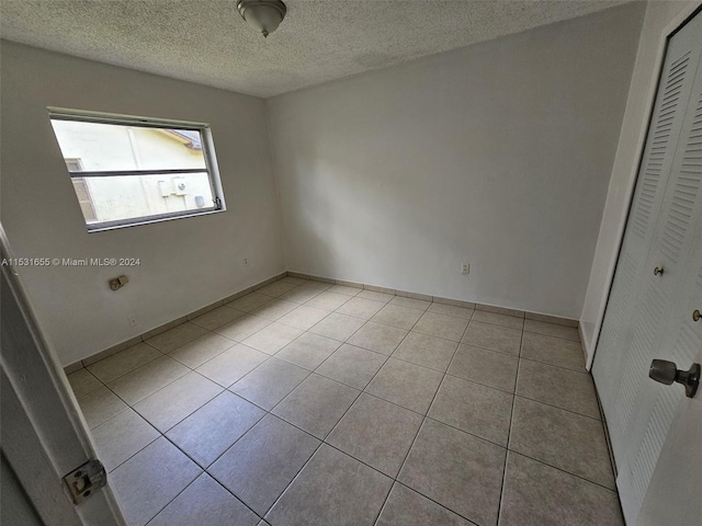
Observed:
[[[141,261],[21,271],[64,364],[285,270],[262,100],[5,41],[1,72],[0,217],[15,254]],[[227,211],[88,233],[46,106],[210,123]],[[129,284],[111,291],[122,273]]]

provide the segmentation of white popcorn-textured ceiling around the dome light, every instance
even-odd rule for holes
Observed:
[[[625,3],[287,0],[264,39],[235,0],[2,0],[3,38],[271,96]]]

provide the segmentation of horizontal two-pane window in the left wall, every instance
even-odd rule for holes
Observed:
[[[49,117],[89,231],[225,209],[206,124],[59,108]]]

